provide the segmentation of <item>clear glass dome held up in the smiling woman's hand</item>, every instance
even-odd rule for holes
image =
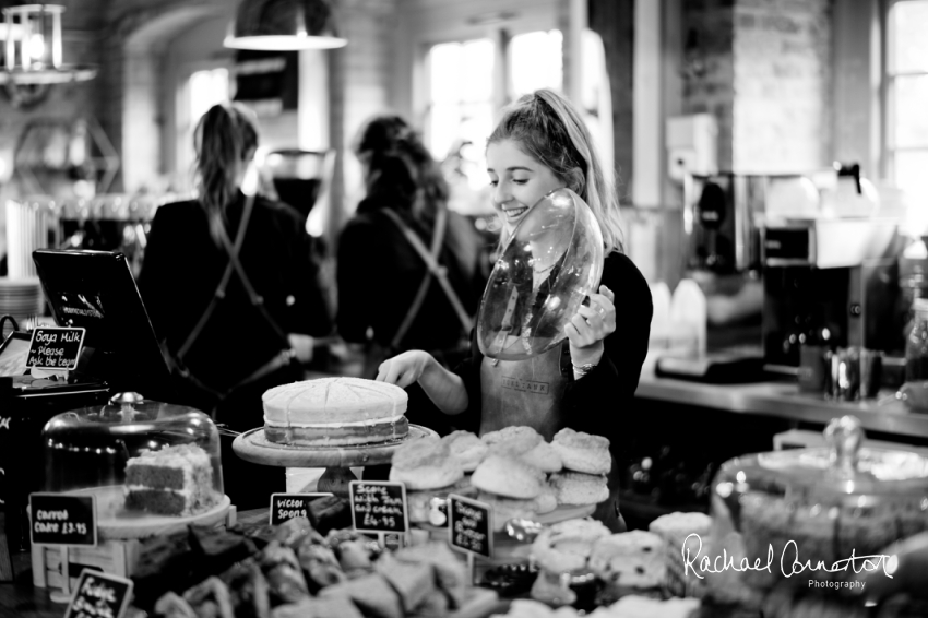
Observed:
[[[599,285],[604,259],[603,231],[580,195],[563,188],[542,198],[515,226],[484,290],[484,356],[524,360],[567,338],[564,326]]]

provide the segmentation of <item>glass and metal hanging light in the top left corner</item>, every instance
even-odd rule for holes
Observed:
[[[3,9],[5,61],[0,84],[37,85],[82,82],[96,76],[96,67],[66,64],[61,48],[58,4],[23,4]]]

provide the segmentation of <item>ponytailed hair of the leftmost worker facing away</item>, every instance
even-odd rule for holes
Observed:
[[[210,236],[218,246],[223,214],[238,192],[241,166],[258,147],[258,131],[239,105],[214,105],[197,123],[193,146],[200,202],[206,210]]]

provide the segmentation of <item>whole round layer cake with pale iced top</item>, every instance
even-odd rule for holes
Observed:
[[[338,447],[405,438],[406,391],[360,378],[320,378],[264,393],[269,442]]]

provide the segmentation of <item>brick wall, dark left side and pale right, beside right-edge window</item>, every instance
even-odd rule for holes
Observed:
[[[831,153],[831,0],[685,3],[686,112],[718,120],[718,165],[817,169]]]

